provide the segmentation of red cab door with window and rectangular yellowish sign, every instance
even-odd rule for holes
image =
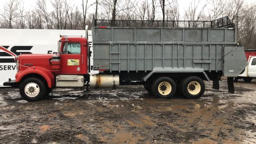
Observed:
[[[82,71],[80,42],[65,42],[60,56],[61,71],[64,74],[79,74]]]

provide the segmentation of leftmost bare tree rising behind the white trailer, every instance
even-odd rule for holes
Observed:
[[[8,23],[8,28],[12,28],[12,21],[18,16],[16,0],[6,2],[3,11],[1,10],[1,16]]]

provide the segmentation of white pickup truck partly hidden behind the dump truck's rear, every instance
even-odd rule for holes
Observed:
[[[237,82],[238,79],[243,79],[245,82],[252,81],[253,78],[256,78],[256,56],[249,56],[248,65],[244,68],[238,77],[234,78],[234,82]]]

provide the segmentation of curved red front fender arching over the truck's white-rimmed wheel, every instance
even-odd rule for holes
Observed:
[[[22,72],[16,73],[16,82],[20,82],[20,80],[27,74],[39,74],[46,80],[49,88],[52,88],[52,86],[54,86],[54,75],[51,72],[49,72],[46,68],[37,66],[30,67]]]

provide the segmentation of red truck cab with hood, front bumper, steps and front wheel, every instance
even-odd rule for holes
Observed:
[[[83,87],[88,74],[88,40],[82,37],[61,37],[58,54],[21,54],[16,59],[16,80],[4,86],[20,88],[28,101],[40,100],[52,88]],[[79,81],[79,84],[74,83]],[[81,81],[81,82],[80,82]]]

